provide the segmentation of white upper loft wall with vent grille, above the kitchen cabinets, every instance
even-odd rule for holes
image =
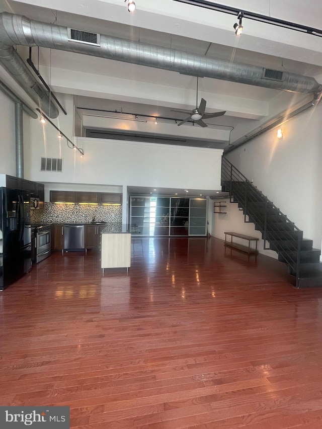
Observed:
[[[62,96],[67,112],[73,112],[72,96]],[[52,120],[85,156],[58,140],[49,123],[31,120],[31,180],[41,183],[153,186],[216,190],[220,188],[221,149],[72,137],[73,114]],[[41,157],[63,159],[62,173],[40,171]]]

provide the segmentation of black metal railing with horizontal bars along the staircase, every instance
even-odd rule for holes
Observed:
[[[281,254],[284,262],[296,272],[298,287],[303,231],[224,157],[221,163],[221,186],[229,192],[230,202],[237,202],[243,208],[245,222],[255,223],[260,228],[264,249],[271,248],[266,246],[266,241],[269,241],[274,250]],[[281,222],[274,222],[279,216]],[[274,226],[280,226],[281,229],[274,229]],[[276,236],[278,234],[278,238],[274,237],[274,232]],[[282,246],[279,241],[283,242]]]

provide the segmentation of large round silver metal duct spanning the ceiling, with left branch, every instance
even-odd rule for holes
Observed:
[[[77,37],[73,37],[73,34]],[[58,110],[35,81],[23,60],[13,49],[13,45],[41,46],[76,52],[274,90],[302,94],[320,91],[319,83],[309,76],[270,70],[256,65],[232,64],[204,55],[72,30],[4,12],[0,14],[0,62],[34,100],[35,97],[38,99],[41,109],[51,118],[58,116]]]

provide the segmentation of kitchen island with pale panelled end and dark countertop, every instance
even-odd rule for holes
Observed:
[[[131,266],[131,233],[126,227],[107,226],[102,230],[101,268],[128,268]]]

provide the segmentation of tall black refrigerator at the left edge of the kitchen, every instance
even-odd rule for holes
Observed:
[[[0,291],[30,269],[30,193],[0,188]]]

